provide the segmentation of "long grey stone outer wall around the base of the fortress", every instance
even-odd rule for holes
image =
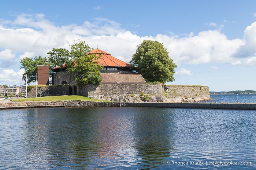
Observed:
[[[37,97],[68,95],[74,85],[45,86],[37,88]],[[207,86],[177,86],[167,85],[168,93],[161,84],[100,84],[77,87],[76,93],[98,100],[110,100],[121,102],[198,102],[210,100]],[[141,92],[144,95],[140,95]],[[28,97],[35,97],[36,88],[28,93]],[[145,96],[148,99],[145,99]]]

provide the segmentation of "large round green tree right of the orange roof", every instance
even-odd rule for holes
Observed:
[[[167,49],[157,41],[144,40],[137,46],[130,63],[148,82],[174,81],[177,65],[169,58]]]

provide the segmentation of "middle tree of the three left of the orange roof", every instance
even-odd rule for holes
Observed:
[[[71,57],[70,52],[63,48],[52,48],[52,51],[49,51],[47,54],[49,54],[48,62],[51,63],[53,67],[60,66],[61,69],[63,69],[65,63],[74,59]]]

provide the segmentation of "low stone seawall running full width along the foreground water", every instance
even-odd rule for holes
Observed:
[[[132,103],[102,101],[25,101],[0,103],[0,109],[53,108],[53,107],[162,107],[195,109],[245,109],[256,110],[256,103]]]

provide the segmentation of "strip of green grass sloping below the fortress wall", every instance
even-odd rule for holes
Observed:
[[[105,102],[110,102],[108,100],[96,100],[96,99],[91,99],[89,97],[79,96],[79,95],[19,98],[19,99],[13,99],[12,101],[63,101],[63,100],[83,100],[83,101],[105,101]]]

